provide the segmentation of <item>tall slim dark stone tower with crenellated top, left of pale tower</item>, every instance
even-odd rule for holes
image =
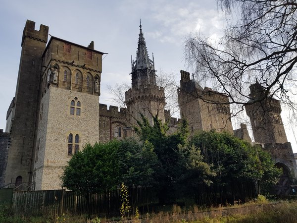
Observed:
[[[22,37],[22,52],[13,110],[9,113],[8,129],[11,145],[8,150],[5,182],[30,182],[34,148],[36,111],[41,78],[42,54],[48,41],[49,27],[41,25],[35,30],[35,22],[27,20]]]

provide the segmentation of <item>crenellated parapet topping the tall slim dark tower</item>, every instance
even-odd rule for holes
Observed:
[[[25,37],[47,43],[48,35],[49,35],[49,26],[45,26],[41,24],[39,30],[35,30],[35,22],[27,20],[26,26],[23,32],[21,46],[23,46]]]

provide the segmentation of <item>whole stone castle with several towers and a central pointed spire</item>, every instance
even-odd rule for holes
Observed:
[[[164,110],[164,89],[156,85],[154,58],[148,56],[141,25],[136,60],[131,59],[132,85],[125,93],[127,108],[120,111],[118,107],[108,109],[99,104],[105,53],[95,50],[94,42],[84,47],[53,36],[48,42],[48,32],[49,27],[41,25],[35,30],[35,22],[27,20],[16,93],[7,111],[6,130],[0,132],[0,187],[60,189],[63,167],[86,143],[133,136],[133,125],[141,113],[151,123],[155,115],[168,121],[171,132],[178,122],[170,117],[170,111]],[[260,97],[258,83],[250,90],[251,100]],[[257,104],[246,108],[255,140],[272,154],[284,175],[297,173],[281,121],[280,103],[273,98],[269,102],[267,113]],[[178,103],[191,134],[215,129],[250,141],[245,124],[233,131],[228,97],[207,87],[203,89],[183,70]]]

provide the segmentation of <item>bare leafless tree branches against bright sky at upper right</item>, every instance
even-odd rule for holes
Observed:
[[[219,45],[202,34],[186,41],[185,56],[199,81],[211,81],[215,90],[227,94],[230,103],[250,101],[248,86],[258,82],[296,109],[297,2],[296,0],[218,0],[223,10],[234,12]]]

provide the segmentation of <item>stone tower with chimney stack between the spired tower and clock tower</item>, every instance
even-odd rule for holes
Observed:
[[[178,104],[182,118],[186,118],[191,134],[196,130],[227,131],[233,134],[228,96],[204,89],[190,73],[181,70]]]

